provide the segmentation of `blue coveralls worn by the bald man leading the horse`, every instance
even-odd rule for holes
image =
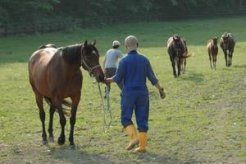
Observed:
[[[152,85],[158,82],[149,60],[137,51],[130,51],[120,61],[113,77],[116,83],[123,81],[121,123],[124,127],[133,124],[131,118],[135,108],[139,132],[148,131],[149,93],[146,86],[146,78],[149,79]]]

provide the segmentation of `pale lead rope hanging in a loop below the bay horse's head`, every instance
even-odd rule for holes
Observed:
[[[109,100],[109,87],[106,86],[106,102],[104,100],[103,94],[102,94],[102,90],[100,87],[100,84],[98,84],[98,90],[101,96],[101,100],[102,100],[102,109],[103,109],[103,121],[104,121],[104,126],[107,127],[107,129],[109,129],[111,123],[112,123],[112,110],[111,110],[111,106],[110,106],[110,100]],[[109,120],[107,118],[107,116],[109,115]]]

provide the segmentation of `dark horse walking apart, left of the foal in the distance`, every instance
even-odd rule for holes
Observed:
[[[173,76],[178,77],[185,72],[186,58],[189,57],[186,41],[175,34],[167,40],[167,52],[173,68]]]

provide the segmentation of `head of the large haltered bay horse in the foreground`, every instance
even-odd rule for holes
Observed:
[[[95,47],[96,41],[93,43],[84,42],[81,49],[82,67],[87,70],[91,76],[94,76],[98,82],[104,82],[104,74],[99,64],[99,53]]]

